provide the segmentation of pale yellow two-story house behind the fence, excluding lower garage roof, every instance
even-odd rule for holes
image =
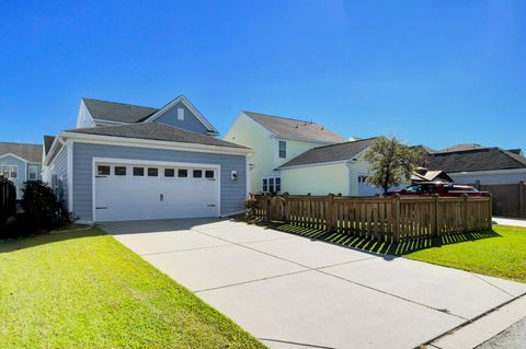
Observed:
[[[312,173],[299,170],[290,175],[288,168],[283,172],[279,166],[310,149],[347,141],[316,123],[252,112],[238,115],[225,140],[252,149],[249,158],[251,193],[290,194],[322,193],[330,184],[325,183],[327,178],[312,176],[317,166],[312,166]],[[338,175],[338,171],[331,174]]]

